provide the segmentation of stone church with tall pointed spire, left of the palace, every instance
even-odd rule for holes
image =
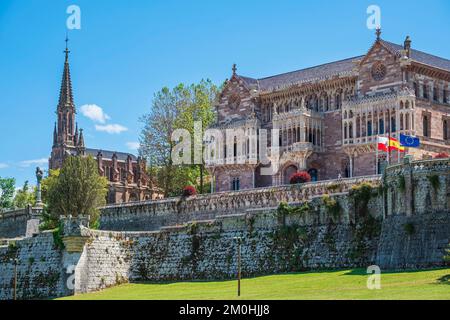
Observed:
[[[86,148],[83,129],[78,129],[75,119],[76,108],[67,47],[56,114],[57,123],[53,130],[49,169],[61,168],[64,159],[68,156],[91,155],[98,163],[100,175],[108,179],[107,203],[152,200],[160,197],[147,174],[145,159],[125,152]]]

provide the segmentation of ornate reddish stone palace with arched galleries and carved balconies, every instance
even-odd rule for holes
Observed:
[[[225,162],[206,160],[215,191],[288,184],[300,170],[314,181],[374,175],[387,157],[376,160],[380,135],[420,138],[419,148],[393,152],[391,163],[405,154],[423,159],[450,151],[450,60],[412,49],[409,37],[403,45],[385,41],[377,30],[358,57],[261,79],[238,75],[234,65],[216,111],[212,129],[240,129],[246,138],[236,134],[234,148],[224,147]],[[268,165],[249,139],[261,129],[279,130],[272,175],[262,174]]]

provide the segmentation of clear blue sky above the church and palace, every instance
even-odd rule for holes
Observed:
[[[231,74],[264,77],[364,54],[374,41],[366,9],[381,8],[382,37],[450,58],[450,1],[0,1],[0,176],[34,182],[47,168],[64,62],[66,9],[79,126],[89,147],[135,152],[153,94],[163,86]],[[100,106],[94,122],[79,110]],[[127,128],[111,134],[96,125]]]

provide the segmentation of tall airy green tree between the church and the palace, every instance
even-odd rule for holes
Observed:
[[[201,165],[174,165],[172,151],[176,129],[186,129],[193,137],[194,122],[201,121],[205,130],[214,120],[213,101],[218,92],[209,80],[173,89],[163,88],[153,98],[151,112],[141,118],[140,154],[149,160],[149,168],[164,195],[179,195],[186,185],[203,184]],[[191,144],[193,148],[193,143]],[[202,190],[202,188],[200,188]]]

